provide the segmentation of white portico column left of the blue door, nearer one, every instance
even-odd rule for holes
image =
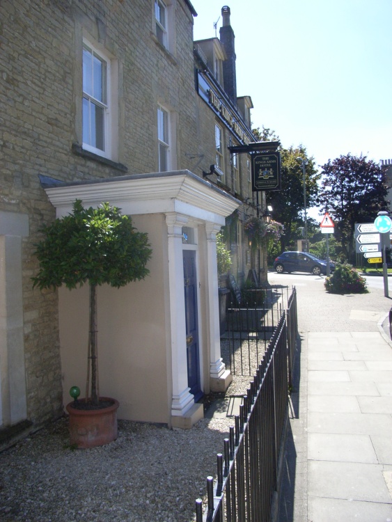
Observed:
[[[194,395],[189,393],[190,388],[188,386],[184,266],[182,261],[182,227],[187,224],[187,221],[187,217],[181,214],[175,212],[166,214],[173,383],[172,416],[183,416],[194,405]]]

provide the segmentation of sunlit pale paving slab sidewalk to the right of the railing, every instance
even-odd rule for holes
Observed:
[[[391,522],[392,301],[373,288],[337,295],[321,278],[290,280],[300,342],[278,520]]]

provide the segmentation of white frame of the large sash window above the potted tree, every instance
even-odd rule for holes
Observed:
[[[84,90],[84,80],[82,79],[82,90],[83,90],[83,100],[82,100],[82,139],[83,139],[83,148],[85,150],[89,150],[90,152],[94,152],[97,155],[103,156],[103,157],[111,157],[111,59],[107,54],[102,52],[102,50],[97,49],[91,41],[87,40],[86,38],[83,39],[83,58],[82,58],[82,67],[84,68],[84,52],[87,50],[88,52],[91,52],[92,56],[95,58],[98,58],[102,63],[104,63],[104,68],[106,69],[106,73],[104,74],[104,85],[102,85],[102,90],[104,91],[105,95],[102,96],[102,100],[99,100],[95,98],[91,93],[87,93]],[[83,75],[82,75],[83,77]],[[102,145],[103,149],[96,147],[95,145],[92,145],[91,143],[88,143],[87,141],[84,141],[85,134],[84,134],[84,100],[88,100],[91,105],[100,106],[103,109],[103,118],[102,118]],[[91,121],[90,121],[91,124]]]

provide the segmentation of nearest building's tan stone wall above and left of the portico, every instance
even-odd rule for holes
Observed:
[[[157,103],[177,127],[173,168],[189,168],[197,141],[193,18],[171,2],[170,52],[155,37],[152,0],[2,0],[0,3],[0,211],[29,216],[22,243],[27,417],[37,427],[61,414],[58,297],[33,289],[34,244],[54,219],[38,175],[71,182],[156,172]],[[81,145],[83,36],[118,70],[113,162],[77,154]]]

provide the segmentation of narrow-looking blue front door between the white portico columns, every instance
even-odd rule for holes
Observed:
[[[191,388],[190,393],[194,395],[196,402],[203,395],[200,386],[200,361],[198,353],[196,252],[190,250],[183,251],[183,260],[188,386]]]

